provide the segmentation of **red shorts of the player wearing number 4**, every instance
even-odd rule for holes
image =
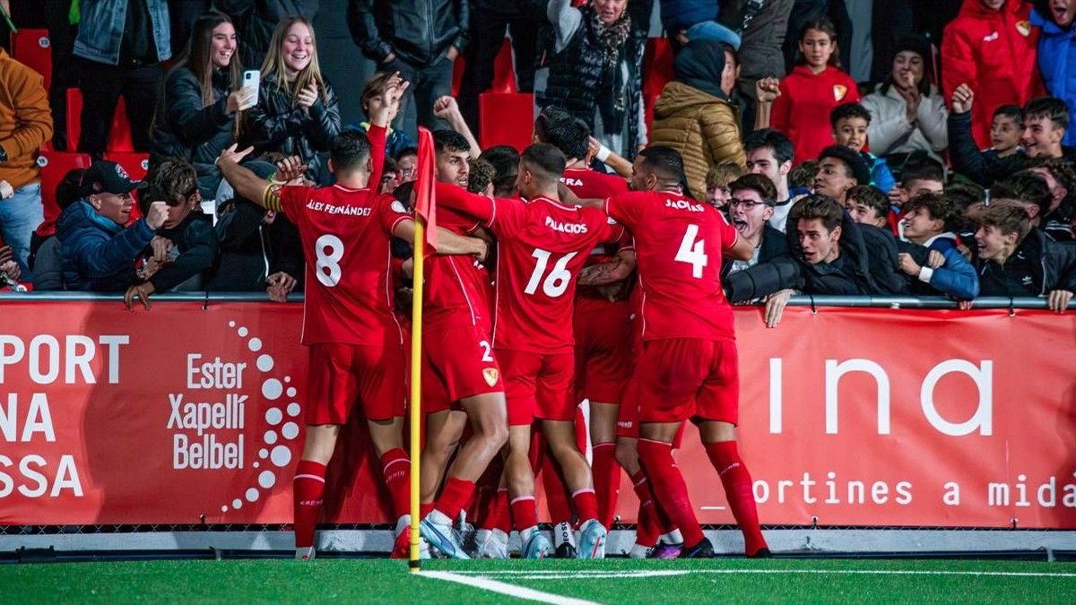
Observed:
[[[739,363],[733,340],[646,341],[635,378],[629,389],[639,400],[639,422],[738,421]]]

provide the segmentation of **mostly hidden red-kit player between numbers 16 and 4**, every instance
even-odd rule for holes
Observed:
[[[567,168],[561,182],[580,198],[612,197],[627,192],[627,181],[617,174],[606,174],[589,167],[587,140],[591,129],[585,122],[560,108],[546,108],[535,121],[535,138],[561,150],[567,157]],[[629,275],[635,267],[635,251],[629,248],[631,237],[624,241],[597,245],[591,251],[586,266],[615,261]],[[598,501],[598,519],[609,526],[617,507],[620,490],[620,464],[617,462],[617,413],[632,370],[632,311],[628,307],[626,279],[620,283],[599,287],[581,287],[576,296],[572,316],[576,337],[576,393],[577,399],[590,402],[590,436],[594,476],[594,492]],[[582,428],[581,426],[577,428]],[[570,509],[566,519],[557,519],[554,506],[561,489],[555,473],[542,475],[556,529],[554,537],[570,537]],[[561,510],[564,516],[564,511]],[[554,544],[557,557],[568,549]],[[569,545],[575,548],[575,545]]]

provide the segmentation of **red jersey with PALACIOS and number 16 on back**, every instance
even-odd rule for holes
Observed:
[[[571,349],[572,299],[579,269],[595,244],[624,228],[593,208],[490,199],[438,184],[437,199],[482,220],[497,236],[494,347],[551,353]]]

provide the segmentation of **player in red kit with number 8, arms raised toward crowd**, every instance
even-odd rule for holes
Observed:
[[[379,183],[385,126],[406,87],[398,78],[390,83],[385,107],[371,116],[369,139],[345,131],[332,140],[332,186],[280,187],[266,182],[239,166],[251,150],[236,152],[235,145],[217,163],[238,195],[283,211],[296,224],[307,261],[302,343],[310,347],[310,364],[307,435],[294,483],[297,559],[314,557],[325,467],[356,398],[398,517],[394,554],[405,551],[409,539],[410,461],[402,435],[406,362],[388,268],[391,238],[413,241],[414,221],[401,203],[368,186]],[[484,253],[478,240],[440,230],[438,237],[442,253]]]

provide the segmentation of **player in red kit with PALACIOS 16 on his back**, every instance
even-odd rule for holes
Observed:
[[[505,370],[508,398],[508,489],[525,558],[542,558],[550,544],[537,531],[534,472],[527,459],[530,426],[542,433],[571,490],[580,525],[580,559],[605,557],[606,529],[586,464],[575,440],[571,313],[576,279],[599,242],[617,241],[623,228],[595,209],[560,202],[565,158],[536,143],[520,157],[516,188],[527,201],[468,194],[438,184],[437,199],[482,220],[497,237],[497,291],[493,346]]]

